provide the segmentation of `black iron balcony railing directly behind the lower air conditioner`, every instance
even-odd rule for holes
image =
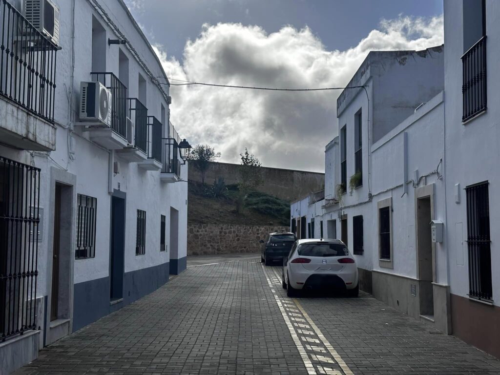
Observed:
[[[126,139],[126,86],[111,72],[92,71],[90,75],[111,91],[111,129]]]

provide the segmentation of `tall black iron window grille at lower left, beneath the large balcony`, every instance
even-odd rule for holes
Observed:
[[[40,169],[0,156],[0,340],[36,329]]]

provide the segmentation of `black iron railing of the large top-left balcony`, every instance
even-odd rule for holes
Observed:
[[[0,95],[53,123],[57,45],[0,0]]]

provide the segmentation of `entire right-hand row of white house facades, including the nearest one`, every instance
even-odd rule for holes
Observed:
[[[337,101],[339,136],[326,146],[321,210],[308,197],[291,211],[292,228],[297,218],[304,225],[314,218],[348,244],[362,289],[497,357],[498,109],[487,103],[496,97],[499,17],[496,1],[444,1],[443,70],[426,65],[432,82],[408,72],[428,91],[421,104],[408,105],[406,118],[393,112],[404,107],[402,76],[381,77],[393,90],[378,94],[369,75],[356,78],[368,70],[362,65],[349,85],[365,86],[366,95],[345,90]],[[381,131],[377,113],[387,115]]]

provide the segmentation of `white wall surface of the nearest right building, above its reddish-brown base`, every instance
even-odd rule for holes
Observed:
[[[497,194],[500,184],[498,160],[500,158],[500,131],[498,117],[500,108],[497,102],[500,94],[496,84],[500,80],[500,71],[496,69],[500,58],[500,2],[486,1],[486,67],[487,100],[486,112],[463,124],[462,116],[462,63],[463,54],[462,4],[444,1],[444,38],[446,40],[444,58],[444,85],[446,95],[445,116],[445,172],[446,209],[448,225],[445,226],[445,240],[448,243],[450,292],[467,297],[468,293],[468,257],[467,218],[464,187],[467,185],[489,182],[489,220],[491,231],[491,264],[493,301],[500,305],[500,232],[495,230],[500,220],[500,196]],[[454,199],[454,185],[460,184],[460,202]],[[455,223],[463,224],[463,232],[455,230]],[[461,243],[463,240],[463,243]]]

